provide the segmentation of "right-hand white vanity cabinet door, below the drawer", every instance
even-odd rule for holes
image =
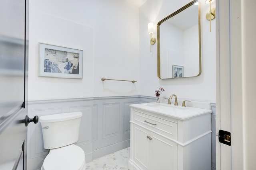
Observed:
[[[177,170],[177,143],[150,132],[150,170]]]

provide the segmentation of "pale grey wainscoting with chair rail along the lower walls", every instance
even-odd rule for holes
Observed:
[[[149,96],[118,96],[36,100],[28,102],[28,116],[81,111],[80,146],[86,162],[130,146],[130,104],[155,102]],[[215,158],[215,104],[212,104],[212,170]],[[28,125],[27,170],[40,170],[48,150],[43,148],[40,123]]]

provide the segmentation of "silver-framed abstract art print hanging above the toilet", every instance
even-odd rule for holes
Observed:
[[[83,51],[39,43],[39,76],[83,78]]]

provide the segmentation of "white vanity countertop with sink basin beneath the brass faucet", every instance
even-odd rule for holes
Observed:
[[[210,103],[209,103],[210,104]],[[210,109],[202,109],[197,107],[182,107],[174,106],[174,104],[165,103],[144,103],[144,104],[132,104],[130,107],[155,112],[161,115],[166,115],[176,119],[189,119],[198,115],[211,113]]]

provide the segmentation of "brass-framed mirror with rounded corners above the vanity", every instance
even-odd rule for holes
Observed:
[[[158,78],[201,74],[200,3],[190,2],[158,22]]]

